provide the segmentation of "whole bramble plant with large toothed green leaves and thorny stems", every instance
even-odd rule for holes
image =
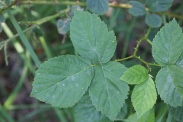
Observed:
[[[41,1],[32,3],[40,4]],[[40,25],[62,14],[67,15],[57,21],[57,30],[62,35],[70,33],[75,55],[50,56],[42,64],[8,11],[23,44],[38,66],[31,97],[53,107],[70,107],[76,122],[183,121],[182,28],[177,22],[179,17],[167,23],[161,17],[162,14],[172,17],[163,12],[172,6],[173,0],[130,1],[120,5],[109,4],[108,0],[60,3],[74,6],[39,21],[20,22]],[[82,6],[87,6],[87,10]],[[117,47],[115,32],[99,16],[105,14],[109,6],[128,8],[135,17],[145,16],[144,22],[149,29],[137,42],[132,55],[120,59],[114,56]],[[0,14],[0,23],[4,21]],[[161,28],[151,41],[151,29],[158,27]],[[142,42],[152,47],[153,62],[138,54]],[[7,42],[0,43],[0,49],[5,48],[4,43]],[[137,59],[142,64],[127,67],[123,61],[128,59]],[[155,74],[152,73],[153,67],[159,68]]]

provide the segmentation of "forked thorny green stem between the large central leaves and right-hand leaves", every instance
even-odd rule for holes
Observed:
[[[151,71],[150,66],[158,66],[158,67],[159,67],[160,65],[155,64],[155,63],[146,62],[146,61],[144,61],[143,59],[141,59],[140,56],[137,56],[137,51],[138,51],[138,49],[139,49],[140,44],[141,44],[143,41],[147,41],[150,45],[152,45],[152,42],[148,39],[148,35],[149,35],[150,31],[151,31],[151,28],[149,28],[148,31],[147,31],[147,33],[145,34],[145,36],[143,36],[143,37],[137,42],[137,45],[136,45],[136,47],[134,48],[135,50],[134,50],[134,52],[133,52],[133,54],[132,54],[131,56],[128,56],[128,57],[125,57],[125,58],[122,58],[122,59],[117,59],[117,60],[115,60],[115,61],[120,62],[120,61],[128,60],[128,59],[131,59],[131,58],[136,58],[136,59],[138,59],[139,61],[141,61],[142,63],[144,63],[144,64],[146,65],[148,71]]]

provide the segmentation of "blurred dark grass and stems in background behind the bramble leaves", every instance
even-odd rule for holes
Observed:
[[[64,23],[65,19],[72,17],[71,14],[76,9],[68,12],[72,5],[59,4],[57,0],[52,0],[50,4],[46,2],[34,4],[36,0],[25,4],[25,1],[0,1],[0,30],[2,30],[0,33],[0,122],[73,121],[71,108],[54,108],[30,97],[31,84],[37,69],[36,57],[32,60],[30,50],[34,51],[39,59],[37,65],[58,55],[78,55],[72,46],[69,32],[66,33],[69,27]],[[77,3],[75,0],[67,1]],[[82,2],[86,1],[78,1],[78,3]],[[129,0],[110,0],[109,2],[110,4],[128,4]],[[139,0],[139,2],[143,4],[145,0]],[[86,10],[85,4],[81,4],[79,9]],[[175,17],[182,27],[182,0],[174,0],[170,9],[157,14],[162,18],[162,26]],[[149,28],[145,24],[144,16],[134,17],[129,14],[128,9],[123,7],[109,7],[107,13],[100,17],[109,30],[114,30],[116,34],[118,45],[112,60],[132,55],[137,41]],[[16,24],[20,26],[19,30]],[[66,29],[64,32],[59,30],[63,26]],[[151,29],[149,35],[151,41],[158,30],[159,28]],[[147,42],[140,45],[138,55],[145,61],[153,62],[151,45]],[[122,63],[127,67],[142,64],[135,59],[125,60]],[[151,67],[151,69],[151,74],[155,76],[159,68]],[[121,116],[125,117],[129,110],[125,109],[126,112]]]

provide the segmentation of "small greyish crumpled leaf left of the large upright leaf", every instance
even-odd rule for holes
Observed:
[[[60,34],[65,35],[70,29],[70,19],[59,19],[57,21],[57,29]]]

